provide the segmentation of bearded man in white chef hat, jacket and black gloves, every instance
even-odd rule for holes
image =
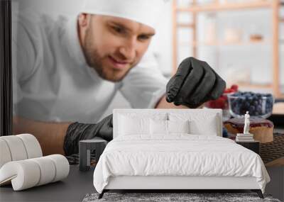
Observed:
[[[45,155],[80,140],[112,139],[102,119],[117,91],[133,108],[196,108],[226,84],[206,62],[185,59],[168,82],[148,50],[163,0],[86,0],[74,17],[21,13],[13,35],[13,131]],[[99,121],[99,122],[98,122]]]

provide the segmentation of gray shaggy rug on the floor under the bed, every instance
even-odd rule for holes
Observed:
[[[278,199],[271,196],[264,195],[264,199],[258,197],[257,193],[104,193],[104,197],[98,199],[98,193],[87,194],[83,202],[94,201],[158,201],[158,202],[172,202],[172,201],[198,201],[198,202],[211,202],[211,201],[269,201],[280,202]]]

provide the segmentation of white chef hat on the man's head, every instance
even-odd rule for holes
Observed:
[[[82,13],[127,18],[155,28],[166,0],[85,0]]]

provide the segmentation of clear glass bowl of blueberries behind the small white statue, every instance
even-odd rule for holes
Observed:
[[[246,111],[251,117],[268,118],[273,110],[272,94],[238,91],[228,95],[229,111],[234,118],[244,118]]]

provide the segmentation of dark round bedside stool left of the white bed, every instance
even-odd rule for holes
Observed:
[[[87,171],[91,166],[91,152],[94,150],[96,162],[104,152],[107,146],[107,140],[95,137],[92,140],[81,140],[79,142],[79,169],[80,171]]]

